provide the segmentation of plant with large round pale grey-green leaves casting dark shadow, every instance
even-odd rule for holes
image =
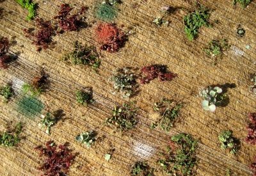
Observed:
[[[204,98],[202,107],[211,112],[214,112],[216,107],[221,106],[221,101],[227,96],[226,93],[222,93],[222,89],[218,86],[214,88],[212,88],[212,86],[204,88],[200,90],[199,95]]]

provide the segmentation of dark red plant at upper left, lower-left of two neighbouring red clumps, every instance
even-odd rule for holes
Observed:
[[[52,42],[51,36],[54,34],[54,29],[52,28],[51,22],[42,19],[36,19],[36,27],[38,30],[32,33],[29,29],[23,29],[26,33],[26,37],[33,38],[32,44],[39,46],[36,51],[41,51],[41,49],[47,49],[49,44]]]

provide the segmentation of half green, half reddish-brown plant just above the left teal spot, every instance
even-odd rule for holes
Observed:
[[[47,74],[44,71],[40,71],[40,77],[35,77],[31,84],[25,83],[22,86],[24,93],[31,93],[31,97],[39,96],[44,90],[45,83],[47,81]]]

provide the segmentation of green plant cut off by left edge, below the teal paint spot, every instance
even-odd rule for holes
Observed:
[[[9,129],[6,132],[0,134],[0,144],[5,147],[14,147],[17,143],[20,143],[20,133],[22,132],[23,124],[19,122],[15,125],[14,129]]]

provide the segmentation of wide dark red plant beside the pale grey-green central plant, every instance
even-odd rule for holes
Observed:
[[[148,67],[142,67],[141,72],[145,74],[145,77],[140,78],[141,84],[149,83],[151,80],[158,77],[159,81],[171,81],[176,74],[166,71],[165,65],[150,65]]]

